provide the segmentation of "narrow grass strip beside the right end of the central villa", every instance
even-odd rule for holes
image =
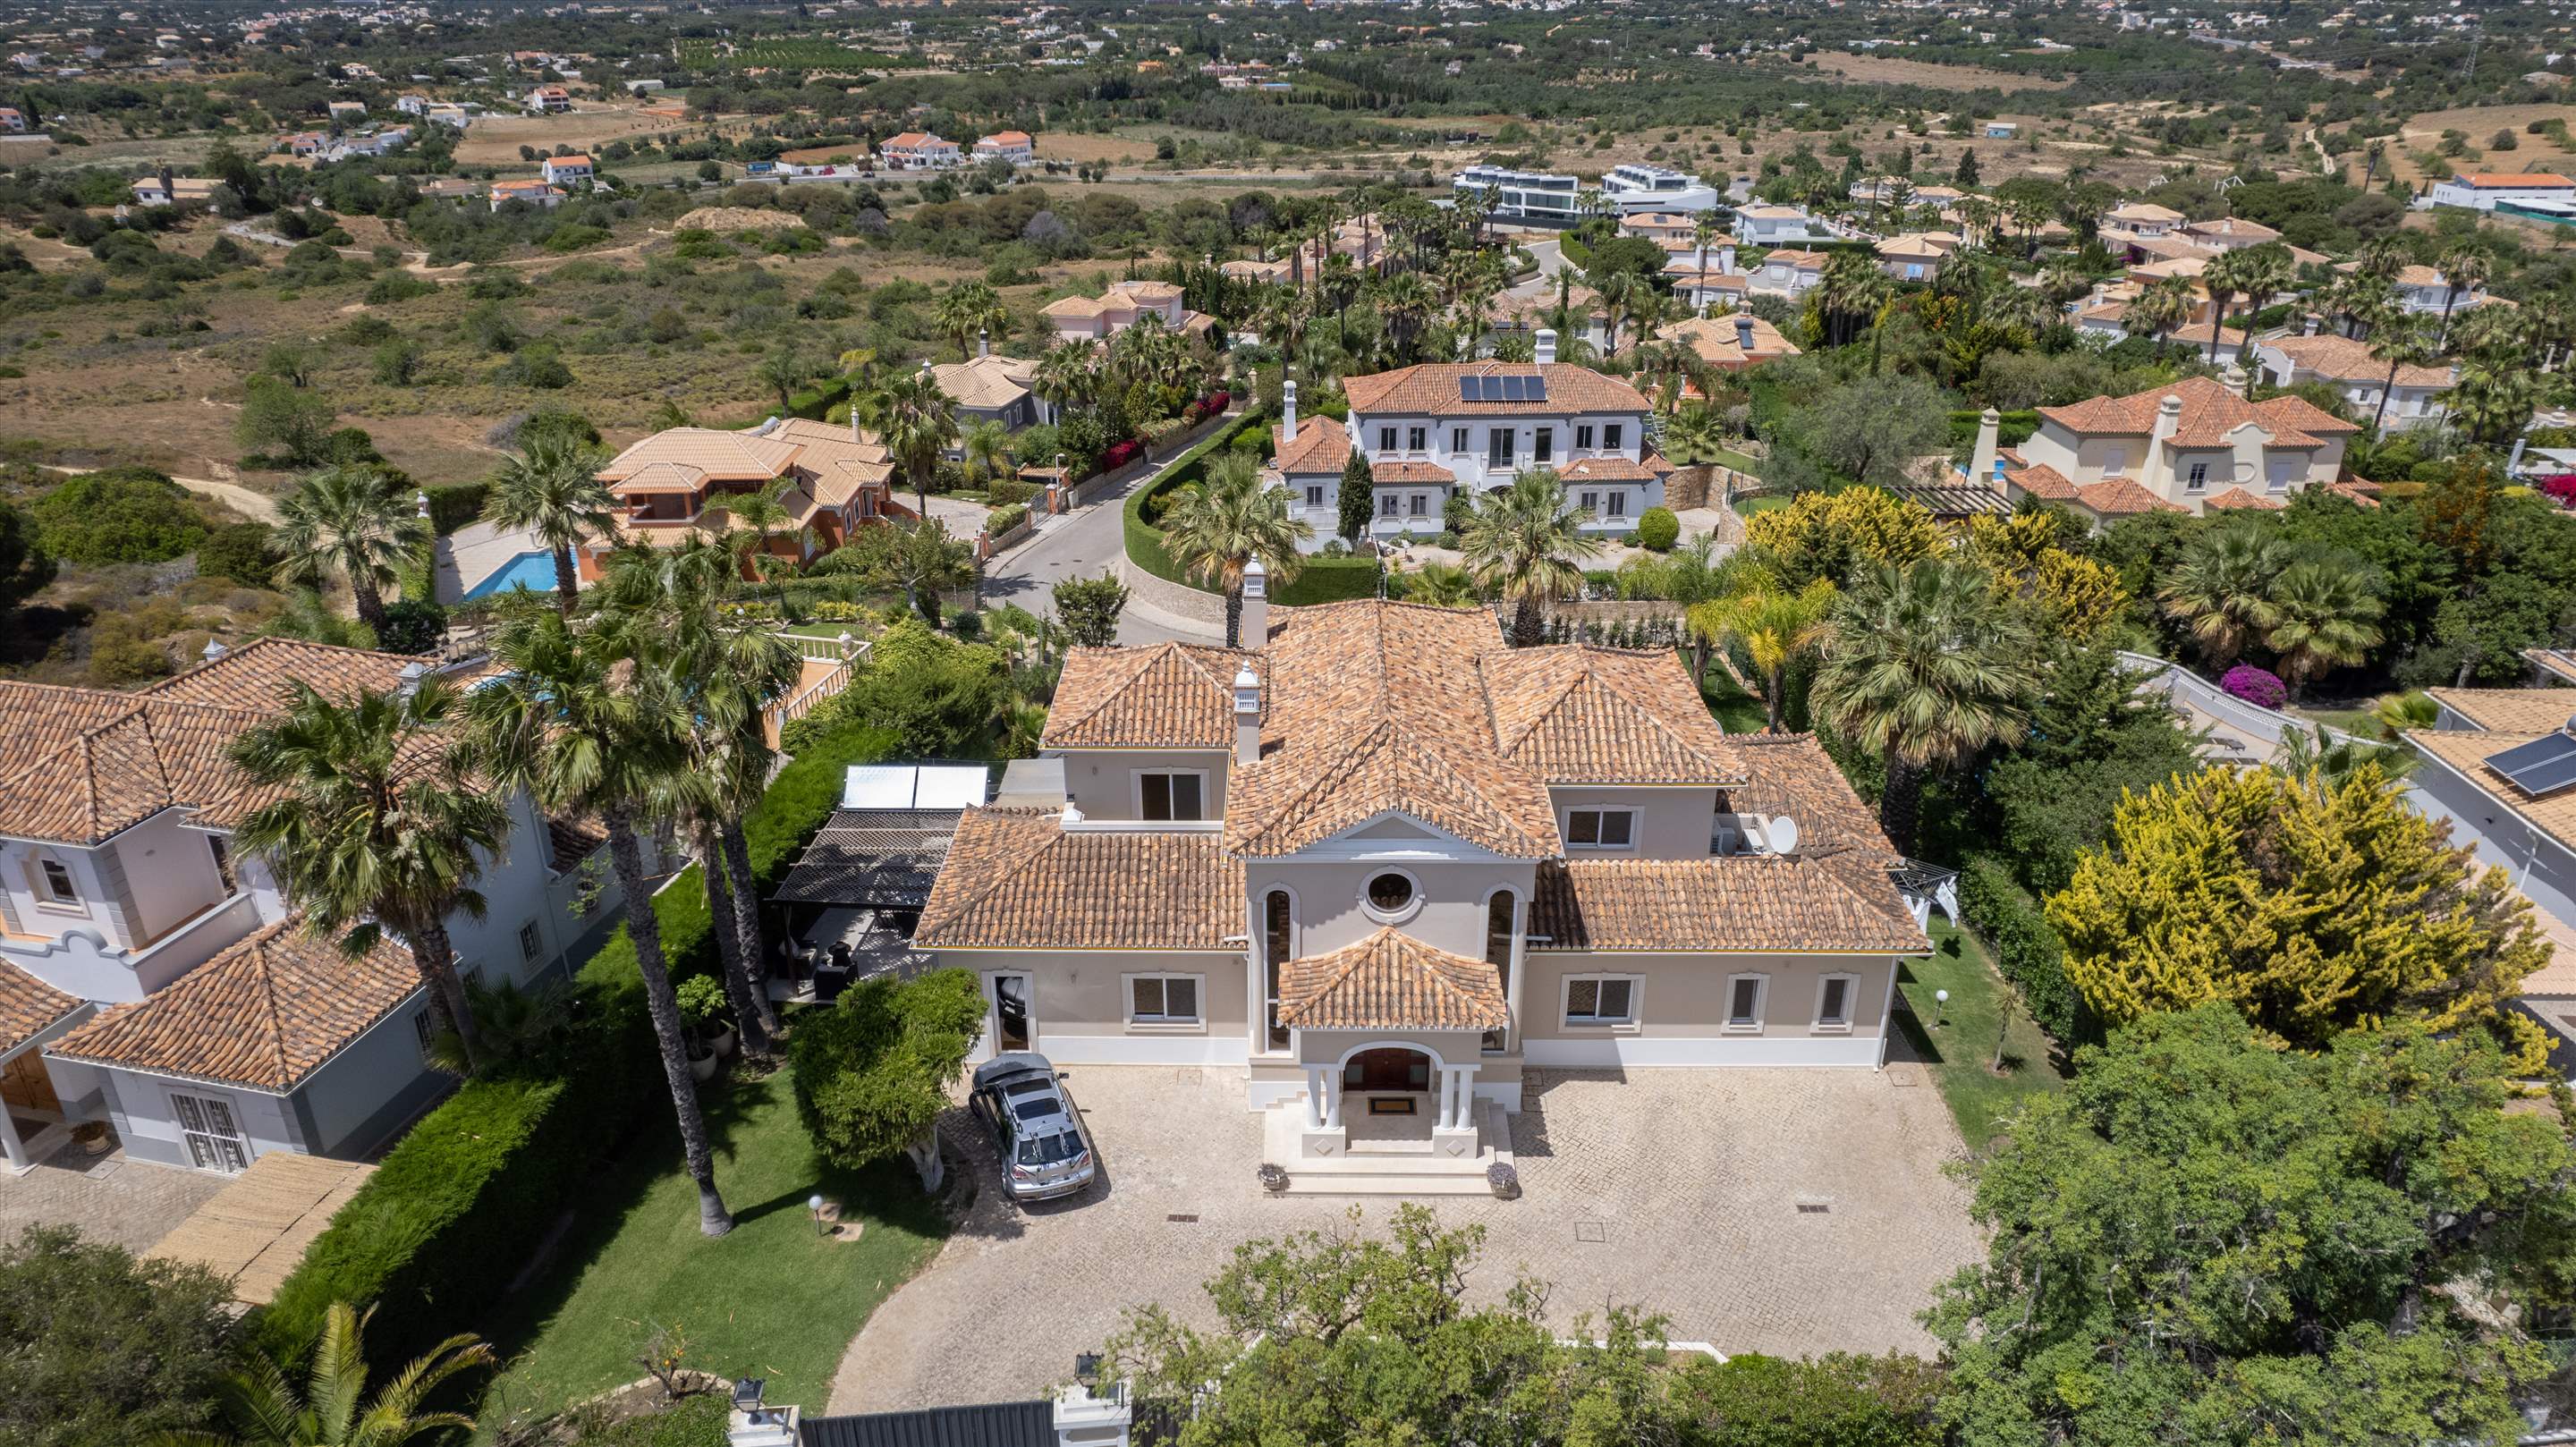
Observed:
[[[2022,1002],[2004,984],[1986,958],[1986,948],[1942,917],[1932,917],[1932,955],[1906,960],[1896,976],[1911,1014],[1899,1014],[1899,1027],[1914,1053],[1932,1061],[1932,1084],[1940,1087],[1958,1133],[1971,1151],[1984,1151],[1996,1128],[2022,1099],[2053,1089],[2066,1089],[2058,1074],[2056,1045],[2030,1020]],[[1947,989],[1950,1002],[1940,1004],[1932,991]],[[2004,1012],[2012,1012],[2004,1035],[2004,1074],[1986,1066],[1994,1061],[1994,1032]]]

